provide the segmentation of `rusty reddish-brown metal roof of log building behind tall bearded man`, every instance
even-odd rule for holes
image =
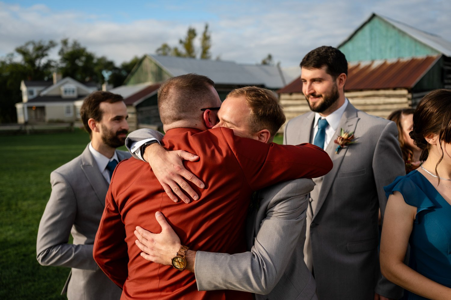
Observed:
[[[345,91],[413,88],[439,58],[440,55],[349,63]],[[300,76],[277,93],[302,93]]]

